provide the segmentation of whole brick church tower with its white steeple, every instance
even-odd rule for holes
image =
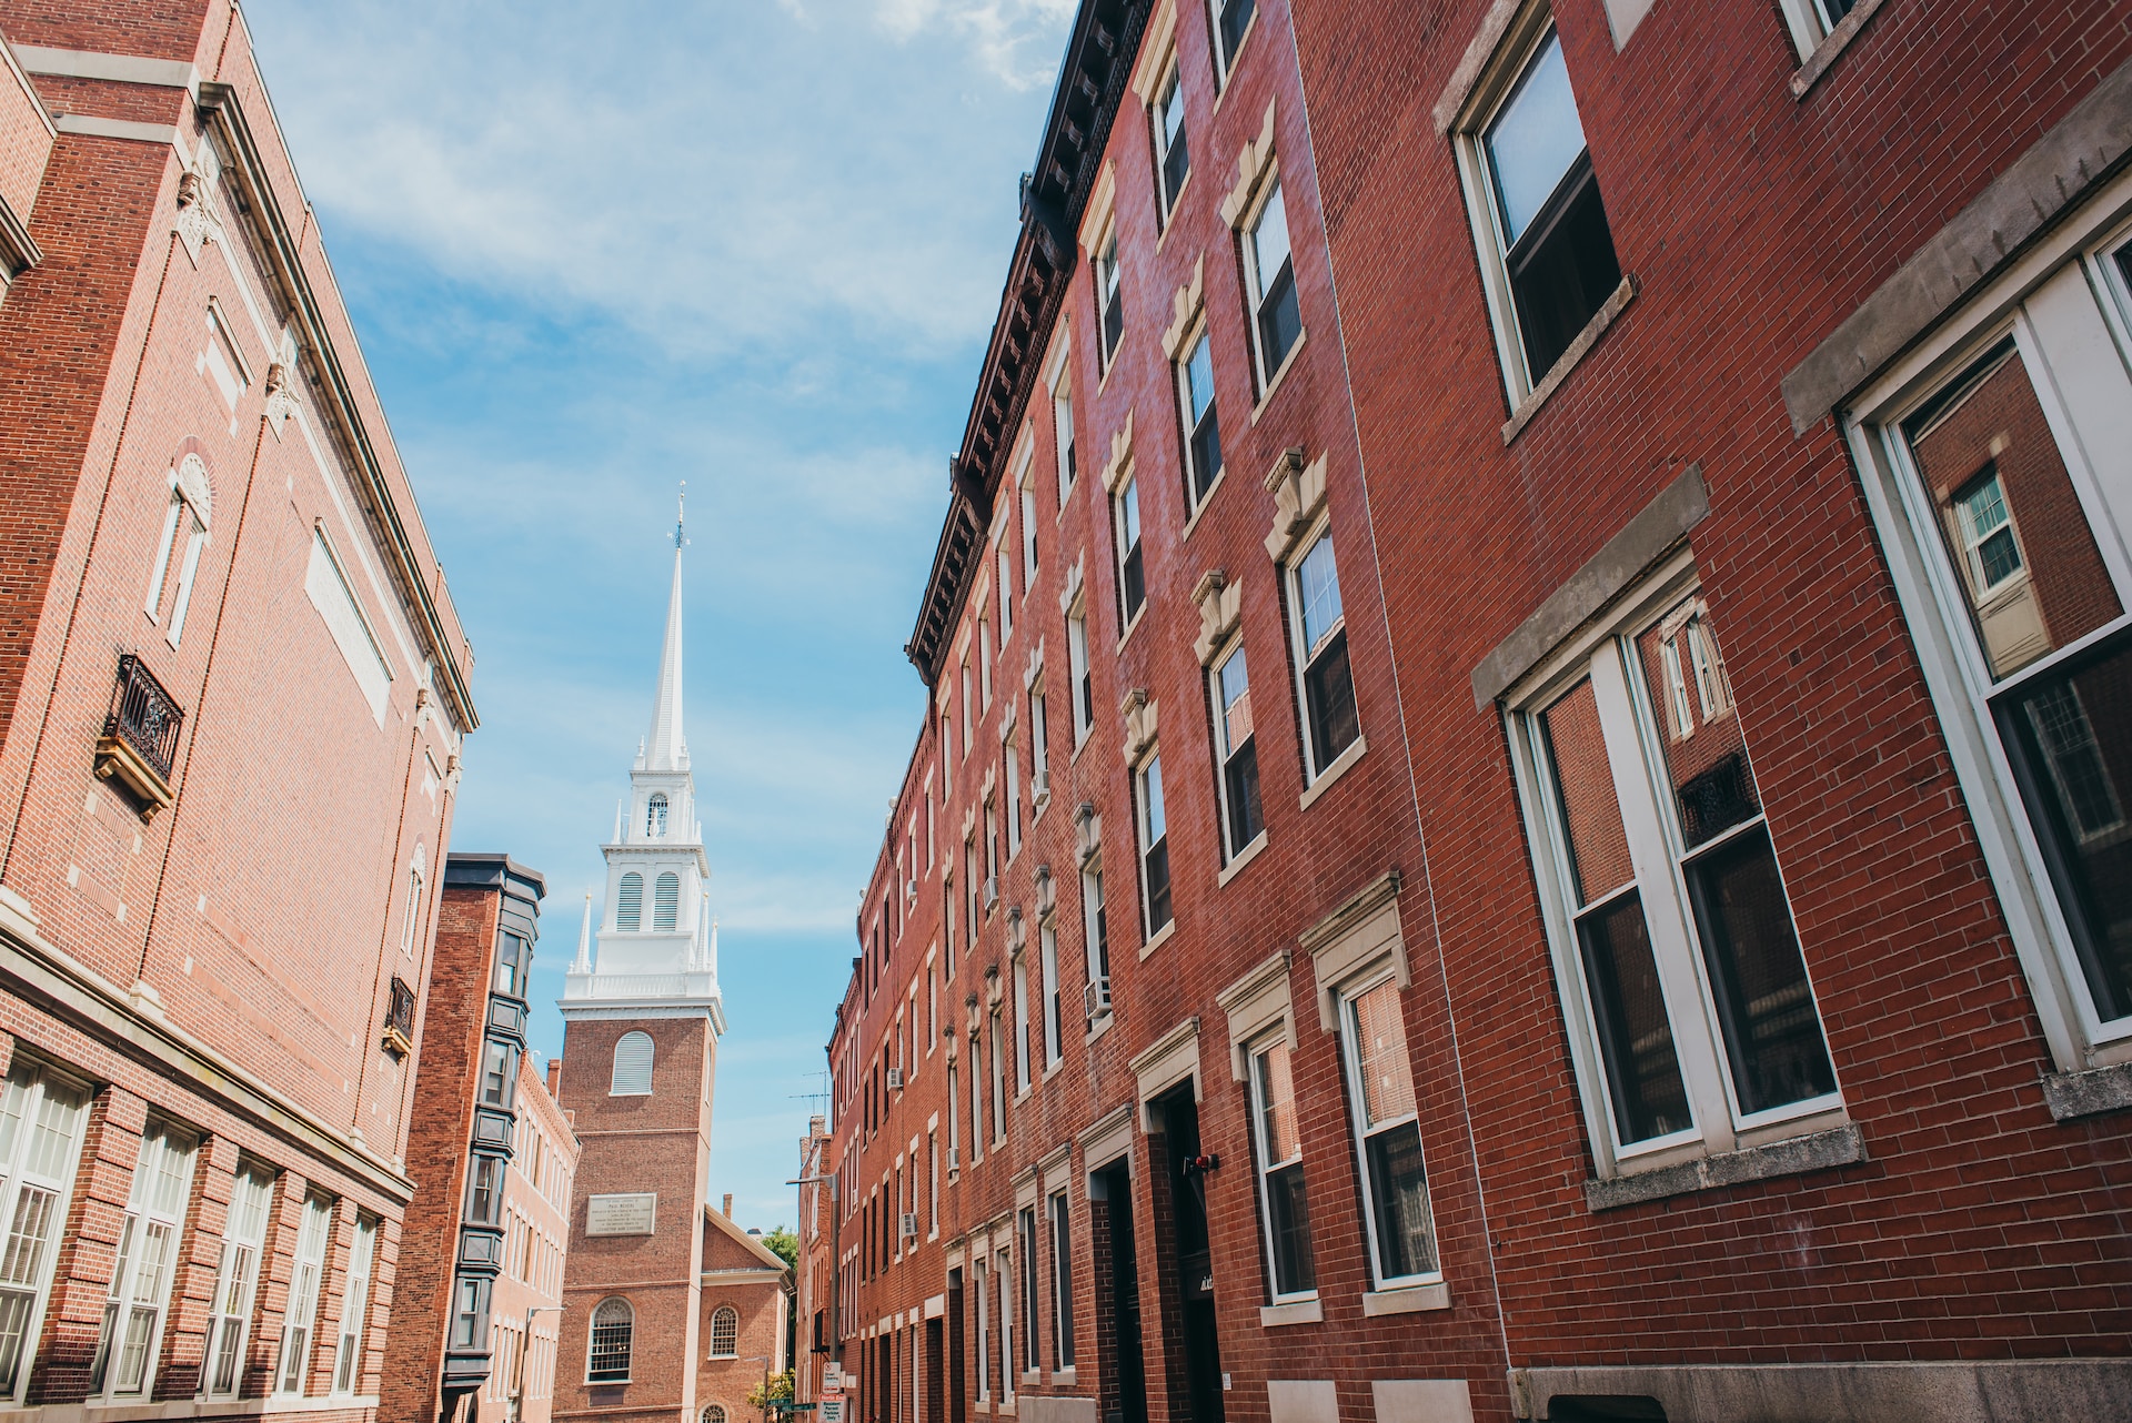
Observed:
[[[586,901],[563,986],[559,1099],[582,1142],[571,1204],[554,1419],[693,1423],[718,935],[682,735],[680,554],[652,729],[629,771],[593,935]]]

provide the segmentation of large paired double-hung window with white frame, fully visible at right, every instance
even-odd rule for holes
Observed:
[[[1601,1174],[1840,1110],[1684,556],[1612,631],[1565,650],[1514,720]]]

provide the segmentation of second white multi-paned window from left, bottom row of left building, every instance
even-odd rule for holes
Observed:
[[[90,1368],[90,1393],[141,1397],[156,1383],[164,1306],[177,1274],[177,1242],[185,1229],[194,1140],[166,1123],[141,1138],[119,1255],[104,1299],[104,1327]]]

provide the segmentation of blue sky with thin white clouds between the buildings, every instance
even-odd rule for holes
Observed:
[[[269,92],[473,639],[452,841],[548,876],[535,1046],[652,709],[721,918],[712,1193],[791,1221],[902,656],[1070,0],[254,0]],[[597,21],[593,17],[597,15]]]

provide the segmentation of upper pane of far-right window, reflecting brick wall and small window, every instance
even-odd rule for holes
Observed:
[[[1904,426],[1991,675],[2123,611],[2013,343]]]

